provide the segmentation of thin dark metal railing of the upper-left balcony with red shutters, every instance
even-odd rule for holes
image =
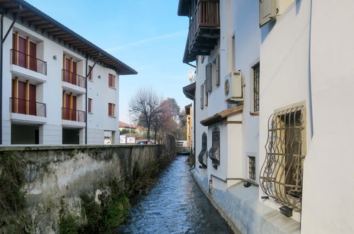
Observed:
[[[11,65],[18,65],[35,72],[47,74],[47,62],[15,49],[10,51],[10,63]]]

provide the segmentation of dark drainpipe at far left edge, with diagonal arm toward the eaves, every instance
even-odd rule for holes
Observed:
[[[11,26],[9,27],[9,29],[7,30],[5,36],[4,36],[4,12],[1,13],[1,19],[0,19],[0,27],[1,27],[1,32],[0,32],[0,145],[2,145],[2,129],[3,129],[3,126],[2,126],[2,121],[3,121],[3,118],[2,118],[2,102],[3,102],[3,98],[2,98],[2,79],[3,79],[3,66],[4,66],[4,48],[3,48],[3,45],[4,45],[4,42],[7,38],[7,36],[9,35],[13,25],[15,24],[18,16],[20,15],[22,11],[22,5],[20,4],[18,6],[18,12],[16,13],[16,16],[15,18],[13,18],[13,21],[11,23]]]

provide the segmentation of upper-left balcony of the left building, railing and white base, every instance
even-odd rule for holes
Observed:
[[[15,76],[26,77],[36,83],[47,80],[47,62],[18,50],[10,50],[10,71]]]

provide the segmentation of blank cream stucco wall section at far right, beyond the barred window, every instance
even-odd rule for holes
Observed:
[[[314,137],[304,165],[302,233],[354,233],[353,7],[313,0]]]

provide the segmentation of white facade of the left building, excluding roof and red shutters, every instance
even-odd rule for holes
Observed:
[[[10,28],[12,21],[12,18],[4,17],[4,27],[2,28],[4,34]],[[10,51],[13,49],[13,36],[17,37],[16,33],[22,38],[29,38],[31,42],[36,44],[36,57],[47,63],[46,74],[11,62]],[[98,49],[94,48],[94,50]],[[64,55],[76,62],[77,71],[75,73],[82,76],[78,79],[79,83],[77,84],[63,81]],[[106,65],[105,62],[100,60],[94,65],[95,60],[94,57],[87,60],[86,55],[74,46],[69,47],[67,44],[60,43],[55,38],[40,33],[40,30],[33,30],[33,27],[29,27],[26,23],[16,22],[3,45],[2,145],[11,145],[11,139],[13,141],[14,138],[17,139],[16,144],[21,143],[21,139],[18,140],[16,134],[21,133],[23,135],[23,133],[26,133],[26,126],[35,128],[39,132],[39,134],[36,133],[39,135],[39,139],[35,143],[40,145],[61,145],[65,140],[65,136],[63,136],[65,130],[68,130],[68,134],[71,134],[69,133],[70,130],[74,130],[74,135],[78,133],[79,144],[85,144],[87,141],[87,144],[96,145],[103,145],[104,131],[111,131],[113,143],[118,144],[119,72],[118,69]],[[37,65],[37,67],[40,65]],[[85,77],[86,72],[89,72],[89,66],[94,66],[91,74],[92,79],[86,81]],[[109,87],[109,74],[114,75],[114,87]],[[74,77],[74,75],[72,76]],[[13,84],[11,84],[13,79],[35,85],[35,101],[45,104],[45,116],[36,116],[38,110],[33,115],[18,113],[18,110],[13,111],[11,109],[9,100],[11,97],[13,98],[13,94],[11,94],[11,91],[13,93]],[[87,82],[87,89],[85,82]],[[76,106],[73,107],[71,106],[74,103],[72,103],[70,97],[70,108],[73,110],[70,115],[74,115],[75,110],[77,110],[76,117],[63,117],[65,115],[62,111],[62,107],[65,105],[63,91],[67,95],[76,96]],[[86,105],[89,105],[87,104],[88,99],[92,99],[91,111],[86,113]],[[35,105],[38,109],[38,106],[43,106],[43,104]],[[114,106],[111,106],[111,109],[114,108],[114,111],[110,112],[111,116],[109,116],[109,104],[114,104]],[[20,105],[19,101],[17,105]],[[87,119],[85,120],[86,116]],[[11,126],[19,132],[16,133],[15,130],[12,130],[11,133]],[[23,128],[23,126],[25,127]],[[85,129],[87,129],[87,140],[85,139]],[[73,137],[77,139],[76,135]],[[22,144],[34,143],[30,136],[22,140]]]

